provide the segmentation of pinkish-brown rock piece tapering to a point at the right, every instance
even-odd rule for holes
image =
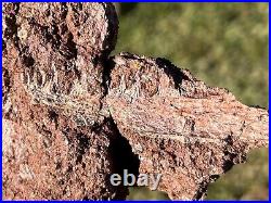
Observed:
[[[170,199],[204,198],[210,181],[268,145],[268,112],[243,105],[164,59],[114,56],[106,97],[139,173],[163,174]]]

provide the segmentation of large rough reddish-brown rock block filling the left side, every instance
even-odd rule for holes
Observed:
[[[103,60],[117,18],[104,3],[7,3],[3,12],[3,198],[124,199]]]

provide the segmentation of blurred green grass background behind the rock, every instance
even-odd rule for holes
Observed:
[[[268,107],[268,3],[116,3],[117,48],[163,56],[247,105]],[[251,152],[208,188],[208,200],[267,200],[268,149]],[[131,188],[129,200],[164,200]]]

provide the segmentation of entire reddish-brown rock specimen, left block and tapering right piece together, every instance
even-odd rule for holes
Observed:
[[[4,199],[125,199],[108,178],[128,169],[163,174],[159,190],[198,200],[268,145],[266,110],[164,59],[108,58],[111,3],[5,3],[2,24]]]

